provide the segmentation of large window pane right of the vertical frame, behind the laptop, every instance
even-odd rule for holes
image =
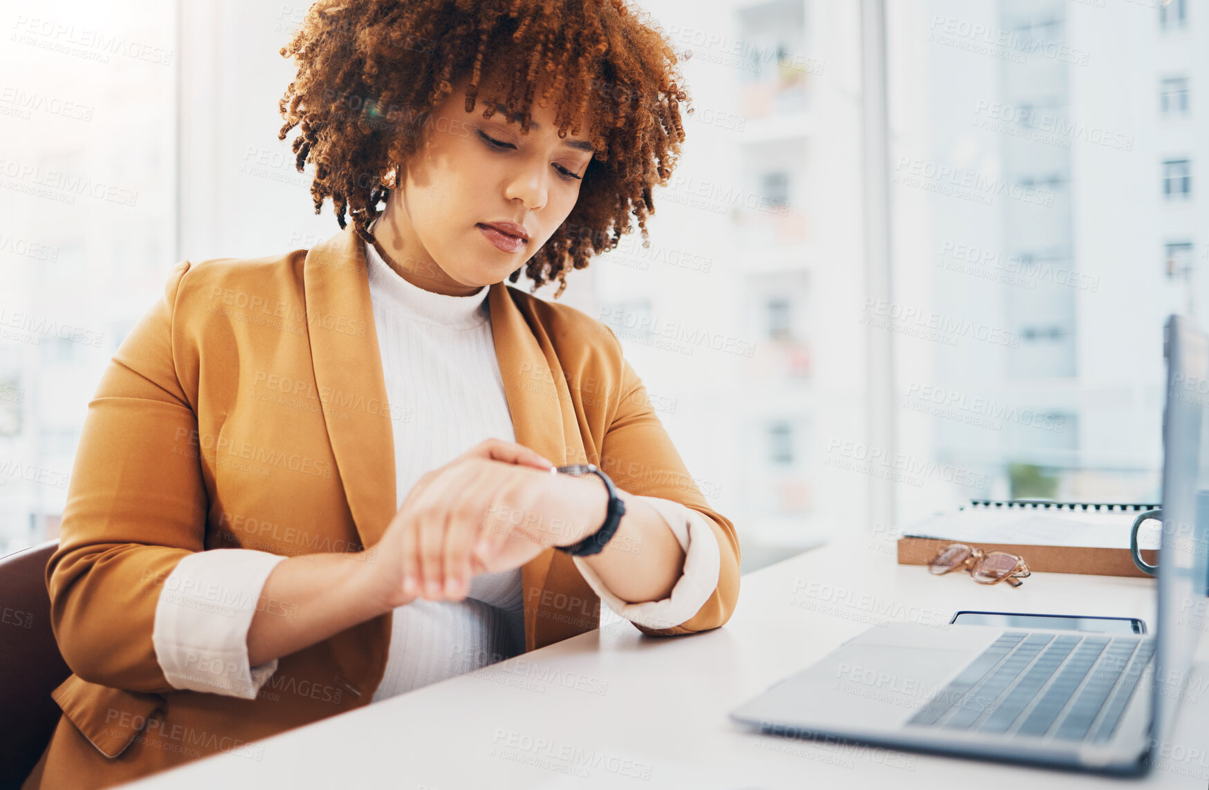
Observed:
[[[1199,214],[1159,209],[1198,197],[1205,138],[1178,128],[1203,68],[1156,24],[1158,1],[886,2],[890,304],[929,323],[893,335],[885,452],[961,476],[895,481],[895,527],[979,495],[1156,501],[1153,338],[1185,298],[1209,302]],[[1201,5],[1173,0],[1164,23],[1182,39]],[[1127,57],[1152,76],[1117,79]],[[820,359],[834,342],[820,333]],[[1146,400],[1095,400],[1130,387]]]

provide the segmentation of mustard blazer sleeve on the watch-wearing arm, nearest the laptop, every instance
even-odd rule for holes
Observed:
[[[617,339],[617,335],[607,325],[602,326],[608,330],[613,342],[617,343],[618,354],[621,355],[621,343]],[[670,500],[695,511],[718,542],[717,583],[692,617],[666,628],[653,628],[632,620],[631,622],[638,631],[653,637],[672,637],[718,628],[730,618],[739,603],[741,554],[735,525],[705,501],[671,437],[659,422],[637,372],[624,355],[620,356],[620,401],[604,434],[601,469],[618,487],[631,494]],[[667,515],[665,513],[665,518]],[[693,531],[692,535],[694,540],[699,538],[698,531]]]

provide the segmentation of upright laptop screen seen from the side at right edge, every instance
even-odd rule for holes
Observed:
[[[1167,321],[1163,538],[1158,556],[1157,731],[1165,743],[1192,655],[1209,621],[1209,341],[1188,319]]]

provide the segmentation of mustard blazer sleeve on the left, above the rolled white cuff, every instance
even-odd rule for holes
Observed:
[[[204,550],[208,495],[179,379],[177,294],[189,261],[135,324],[88,402],[46,567],[51,625],[71,670],[128,691],[170,691],[152,629],[163,582]],[[196,360],[195,360],[196,364]]]

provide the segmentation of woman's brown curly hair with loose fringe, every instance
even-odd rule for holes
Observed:
[[[501,103],[527,133],[549,76],[538,105],[553,94],[559,136],[578,117],[595,149],[574,209],[523,267],[530,292],[559,280],[560,296],[567,271],[615,248],[631,214],[649,243],[652,187],[666,185],[679,156],[689,98],[671,43],[625,0],[319,0],[280,53],[299,71],[278,103],[278,139],[299,127],[295,167],[316,163],[314,213],[330,197],[340,227],[347,209],[366,242],[389,196],[383,176],[420,147],[433,109],[465,76],[474,110],[486,62],[508,93],[486,97],[482,117]]]

